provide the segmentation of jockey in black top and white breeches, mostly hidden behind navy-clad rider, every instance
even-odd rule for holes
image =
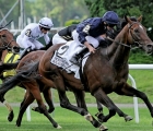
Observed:
[[[76,28],[76,24],[72,24],[68,27],[62,28],[52,37],[52,45],[55,44],[66,44],[69,40],[73,40],[72,33]]]

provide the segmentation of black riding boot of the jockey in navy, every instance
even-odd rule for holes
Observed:
[[[72,58],[70,59],[70,61],[74,64],[80,66],[81,63],[81,59],[83,58],[83,56],[89,52],[89,49],[86,47],[83,47],[78,53],[73,55]]]

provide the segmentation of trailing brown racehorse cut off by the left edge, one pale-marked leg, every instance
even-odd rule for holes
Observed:
[[[20,51],[20,47],[13,38],[13,34],[9,32],[8,28],[0,27],[0,78],[1,79],[2,79],[1,74],[4,70],[13,69],[14,67],[16,67],[15,64],[3,63],[5,55],[8,52],[19,53],[19,51]],[[8,104],[8,102],[1,100],[1,103],[3,103],[9,109],[10,111],[9,116],[13,116],[13,110],[11,106]],[[8,117],[8,119],[10,118]]]

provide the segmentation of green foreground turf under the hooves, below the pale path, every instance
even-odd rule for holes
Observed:
[[[19,107],[14,107],[15,118],[12,122],[7,121],[8,110],[5,107],[0,107],[0,131],[57,131],[52,128],[47,118],[43,115],[31,111],[32,120],[26,120],[26,114],[23,117],[22,126],[20,128],[15,127],[15,120],[19,111]],[[95,107],[89,108],[92,115],[96,114]],[[134,118],[133,108],[122,108],[125,112]],[[106,108],[104,112],[107,114]],[[113,117],[107,123],[109,131],[152,131],[152,118],[146,108],[139,108],[140,122],[136,123],[134,119],[129,122],[125,122],[123,118],[117,115]],[[56,107],[52,114],[54,119],[62,127],[61,131],[98,131],[89,121],[86,121],[82,116],[63,109],[61,107]]]

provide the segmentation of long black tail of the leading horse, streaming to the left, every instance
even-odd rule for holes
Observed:
[[[8,91],[10,91],[11,88],[13,88],[15,85],[19,85],[23,81],[27,81],[27,80],[31,81],[30,75],[34,71],[37,70],[38,62],[33,63],[33,66],[31,64],[30,68],[28,67],[30,66],[26,66],[27,70],[21,70],[14,76],[10,78],[3,84],[1,84],[1,86],[0,86],[0,95],[5,94]]]

